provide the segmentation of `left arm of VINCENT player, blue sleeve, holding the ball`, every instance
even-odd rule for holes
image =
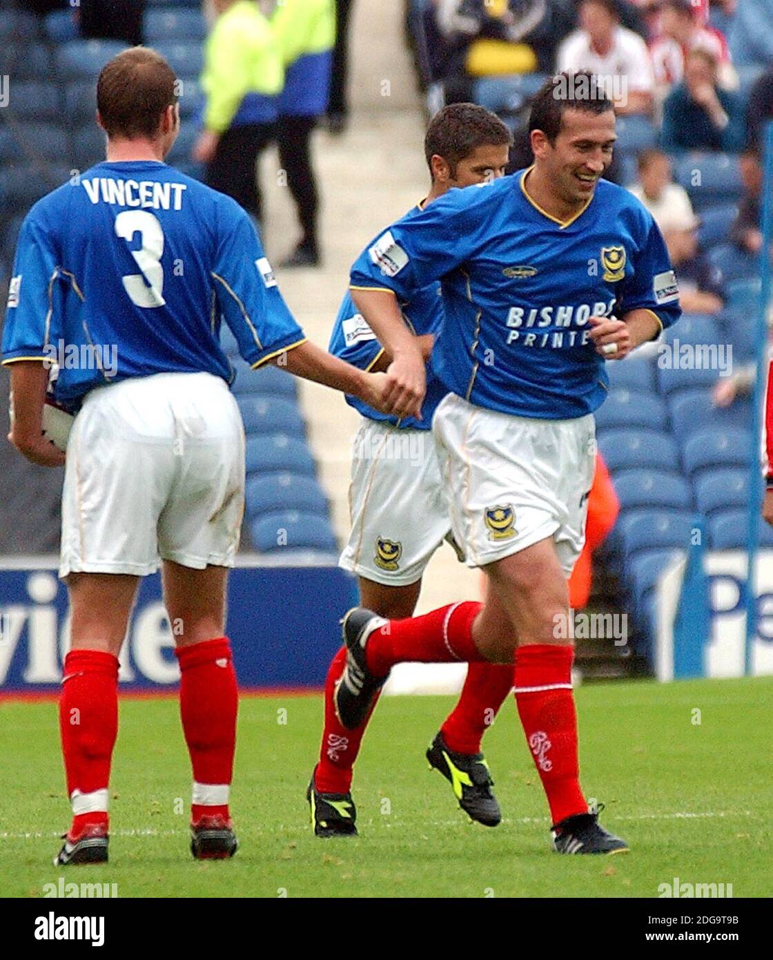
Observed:
[[[19,231],[8,312],[3,326],[3,366],[11,371],[13,420],[9,441],[32,463],[60,467],[64,453],[43,436],[48,386],[53,243],[33,209]]]

